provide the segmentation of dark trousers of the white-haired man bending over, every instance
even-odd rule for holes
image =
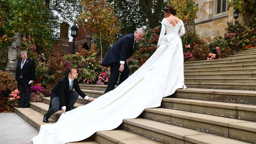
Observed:
[[[104,94],[106,94],[107,92],[113,90],[115,88],[115,84],[117,83],[117,80],[119,78],[119,74],[120,78],[119,78],[119,83],[118,85],[120,85],[123,81],[125,81],[125,79],[128,78],[129,74],[130,74],[130,70],[128,68],[127,63],[124,63],[124,70],[122,72],[119,71],[120,68],[120,63],[111,63],[110,64],[110,78],[108,79],[108,87],[105,90]]]

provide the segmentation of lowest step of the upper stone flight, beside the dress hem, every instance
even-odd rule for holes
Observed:
[[[225,90],[256,90],[255,83],[191,83],[185,82],[188,88],[225,89]]]

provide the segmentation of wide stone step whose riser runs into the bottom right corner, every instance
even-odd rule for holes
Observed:
[[[145,109],[141,117],[222,137],[256,142],[256,122],[165,108]]]

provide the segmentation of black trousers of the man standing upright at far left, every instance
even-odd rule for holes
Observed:
[[[18,87],[20,91],[20,100],[19,105],[28,106],[30,103],[30,85],[24,81],[24,79],[20,78],[18,81]]]

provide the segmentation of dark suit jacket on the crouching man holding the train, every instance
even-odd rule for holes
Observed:
[[[82,90],[80,89],[77,79],[74,79],[74,81],[73,81],[72,90],[73,89],[75,89],[76,92],[83,98],[86,96],[86,94],[84,94],[82,92]],[[58,83],[52,88],[51,100],[53,98],[55,98],[56,96],[59,96],[59,102],[60,102],[59,106],[63,107],[63,106],[65,106],[65,98],[68,93],[69,93],[69,77],[65,76],[64,78],[61,78],[58,81]],[[50,104],[50,107],[51,107],[51,104]]]

